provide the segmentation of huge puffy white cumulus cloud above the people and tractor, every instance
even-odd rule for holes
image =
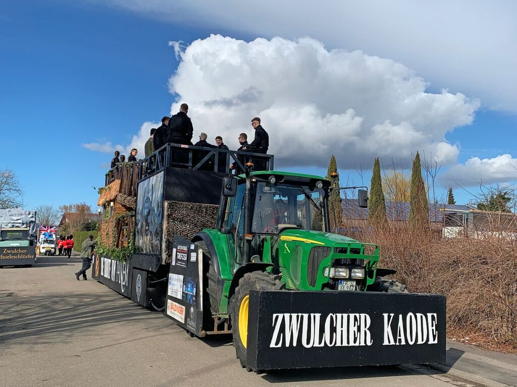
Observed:
[[[179,56],[171,113],[187,102],[194,138],[222,135],[230,148],[241,131],[253,136],[250,120],[259,116],[277,165],[326,166],[333,153],[341,168],[374,157],[408,166],[416,150],[454,163],[458,148],[445,134],[471,123],[479,107],[460,93],[427,92],[423,79],[393,60],[327,50],[310,38],[211,35]]]

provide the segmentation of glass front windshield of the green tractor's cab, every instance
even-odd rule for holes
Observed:
[[[308,185],[257,183],[252,233],[277,234],[283,224],[323,231],[324,194]]]

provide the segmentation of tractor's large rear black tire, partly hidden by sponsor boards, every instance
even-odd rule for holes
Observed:
[[[211,314],[219,313],[222,288],[218,286],[219,276],[205,241],[197,241],[194,244],[203,251],[203,283],[205,284],[203,289],[203,329],[211,331],[214,329],[214,319]]]

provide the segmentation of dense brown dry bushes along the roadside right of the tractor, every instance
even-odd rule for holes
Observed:
[[[477,334],[517,349],[517,242],[444,239],[386,224],[356,235],[379,245],[379,267],[396,269],[410,291],[447,296],[449,332]]]

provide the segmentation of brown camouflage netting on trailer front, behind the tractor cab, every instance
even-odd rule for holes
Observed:
[[[203,228],[214,228],[218,209],[213,204],[165,202],[165,263],[171,261],[174,235],[191,239]]]

